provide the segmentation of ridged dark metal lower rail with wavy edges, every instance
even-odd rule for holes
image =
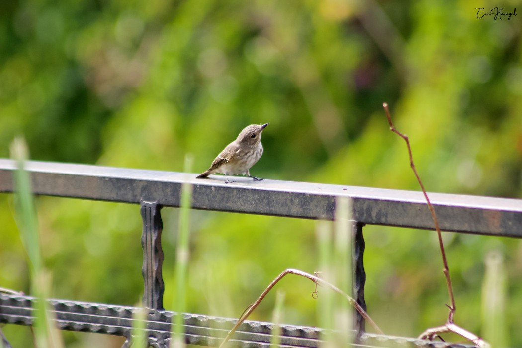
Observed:
[[[34,297],[7,295],[0,293],[0,323],[33,325]],[[107,305],[89,302],[50,299],[57,327],[62,330],[97,332],[130,337],[133,326],[133,313],[141,308]],[[153,310],[148,315],[149,342],[169,343],[172,311]],[[199,314],[184,314],[183,332],[186,343],[204,346],[218,346],[237,319],[212,317]],[[316,327],[282,325],[281,346],[285,348],[321,346],[322,329]],[[350,332],[355,335],[355,332]],[[245,320],[230,340],[232,347],[270,348],[272,324],[263,321]],[[471,348],[469,344],[450,344],[448,342],[429,342],[414,338],[393,337],[363,333],[360,343],[350,346],[364,348],[370,346],[386,347],[426,347],[426,348]]]

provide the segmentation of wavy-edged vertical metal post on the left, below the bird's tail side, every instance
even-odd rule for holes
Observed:
[[[161,231],[163,222],[161,207],[156,202],[141,201],[140,212],[143,219],[143,267],[141,274],[145,281],[143,305],[150,309],[163,310],[163,292],[165,285],[161,269],[163,266],[163,249],[161,248]]]

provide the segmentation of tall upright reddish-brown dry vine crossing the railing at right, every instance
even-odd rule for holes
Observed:
[[[442,240],[441,226],[438,224],[438,219],[437,219],[437,214],[435,213],[435,209],[433,208],[433,205],[431,204],[431,201],[428,198],[428,194],[426,194],[426,190],[424,189],[424,185],[422,184],[421,178],[420,178],[419,174],[417,173],[417,170],[415,169],[415,164],[413,163],[413,155],[411,154],[410,141],[406,135],[400,133],[400,131],[398,131],[395,128],[395,126],[392,122],[392,116],[390,116],[390,113],[388,110],[388,104],[383,103],[383,107],[384,107],[384,111],[386,113],[386,118],[388,119],[388,124],[390,126],[390,130],[393,131],[393,133],[400,136],[406,142],[406,147],[408,148],[408,155],[410,158],[411,170],[413,171],[413,174],[417,178],[417,182],[419,183],[419,186],[422,190],[422,194],[424,195],[424,199],[426,200],[426,204],[428,205],[428,209],[430,210],[431,217],[432,217],[433,223],[435,225],[435,230],[437,231],[438,243],[440,244],[440,247],[441,247],[442,261],[444,263],[443,272],[446,277],[446,284],[447,284],[448,293],[449,293],[450,304],[447,305],[449,307],[449,314],[448,314],[448,320],[446,321],[445,325],[426,329],[423,333],[420,334],[419,338],[433,340],[435,337],[437,337],[441,333],[454,332],[454,333],[470,340],[471,342],[477,344],[480,347],[487,347],[487,346],[489,346],[489,344],[487,342],[482,340],[476,334],[469,332],[465,329],[462,329],[461,327],[456,325],[455,322],[453,321],[453,317],[455,315],[455,310],[457,309],[457,307],[455,305],[455,296],[453,295],[452,280],[449,276],[448,260],[446,257],[446,250],[444,248],[444,242]]]

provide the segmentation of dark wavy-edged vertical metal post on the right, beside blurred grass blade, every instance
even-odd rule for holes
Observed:
[[[366,282],[366,273],[364,272],[364,237],[362,235],[363,224],[357,221],[353,223],[353,298],[361,307],[366,310],[366,302],[364,301],[364,283]],[[355,311],[354,329],[360,334],[365,330],[364,318]]]

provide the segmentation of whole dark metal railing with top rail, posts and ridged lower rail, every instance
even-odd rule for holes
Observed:
[[[12,160],[0,159],[0,193],[13,193]],[[193,185],[192,208],[201,210],[241,212],[281,217],[333,220],[336,199],[352,201],[353,217],[353,297],[366,309],[364,301],[363,254],[365,224],[412,227],[433,230],[433,221],[421,192],[354,187],[343,185],[285,182],[265,179],[252,182],[235,178],[234,184],[219,179],[196,179],[196,174],[123,169],[95,165],[29,161],[32,190],[36,195],[126,202],[140,205],[143,219],[141,243],[144,250],[144,304],[148,315],[148,342],[166,347],[170,340],[173,313],[163,309],[163,251],[161,248],[162,207],[179,207],[183,184]],[[441,229],[506,237],[522,237],[522,200],[429,194],[441,222]],[[29,296],[0,294],[0,322],[32,325],[32,302]],[[123,335],[124,346],[130,346],[132,313],[137,308],[117,305],[50,300],[61,329]],[[185,314],[186,341],[192,344],[218,345],[233,327],[234,319]],[[232,340],[236,346],[268,346],[271,325],[246,321]],[[315,347],[320,329],[285,326],[281,344]],[[364,320],[355,319],[354,333],[361,344],[412,343],[416,339],[379,337],[364,332]],[[361,334],[362,333],[362,334]],[[6,341],[7,342],[7,341]],[[384,343],[389,342],[389,343]],[[438,343],[430,343],[438,346]],[[464,345],[452,345],[464,346]]]

